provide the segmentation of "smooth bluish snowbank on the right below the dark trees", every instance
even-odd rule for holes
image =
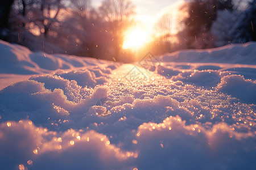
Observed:
[[[226,45],[215,49],[181,50],[160,57],[162,62],[256,63],[256,43]]]

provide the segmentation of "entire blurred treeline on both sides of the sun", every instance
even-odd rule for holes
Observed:
[[[177,32],[171,12],[155,23],[154,39],[144,52],[163,54],[179,49],[213,48],[256,41],[256,0],[193,0],[179,7]],[[67,53],[121,60],[127,28],[135,24],[129,0],[2,0],[0,39],[47,53]],[[177,23],[176,23],[177,24]],[[127,60],[126,60],[127,61]]]

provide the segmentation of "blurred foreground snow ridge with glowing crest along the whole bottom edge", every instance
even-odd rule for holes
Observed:
[[[0,131],[1,153],[5,155],[0,163],[6,169],[223,169],[223,165],[225,169],[240,169],[256,165],[255,150],[250,150],[255,144],[254,133],[238,133],[225,123],[207,129],[185,125],[179,116],[167,117],[160,124],[139,125],[127,138],[131,142],[127,150],[94,130],[56,133],[30,120],[3,122]],[[245,141],[246,147],[241,147]]]

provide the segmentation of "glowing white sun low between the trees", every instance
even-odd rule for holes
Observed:
[[[147,42],[148,35],[142,29],[135,28],[129,29],[123,39],[123,49],[138,49]]]

